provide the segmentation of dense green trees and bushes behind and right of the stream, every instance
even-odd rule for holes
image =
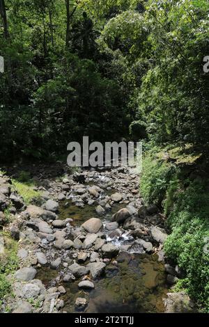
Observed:
[[[1,160],[52,159],[86,135],[189,143],[208,159],[208,35],[207,0],[0,0]],[[206,305],[208,191],[176,187],[172,165],[145,159],[141,191],[164,207],[167,253]]]

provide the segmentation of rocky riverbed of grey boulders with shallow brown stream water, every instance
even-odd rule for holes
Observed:
[[[165,217],[144,205],[134,168],[66,173],[59,181],[42,174],[38,182],[39,203],[26,206],[0,176],[0,225],[18,241],[20,260],[1,312],[8,305],[23,313],[194,310],[186,294],[169,291],[181,271],[164,258]]]

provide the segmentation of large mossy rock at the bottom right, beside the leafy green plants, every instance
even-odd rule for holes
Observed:
[[[167,293],[164,298],[165,313],[195,312],[195,305],[185,292]]]

